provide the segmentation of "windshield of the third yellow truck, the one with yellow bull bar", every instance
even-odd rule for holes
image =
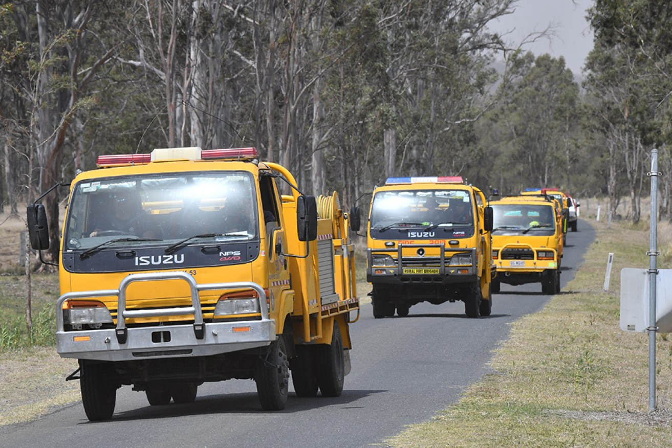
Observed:
[[[534,204],[491,204],[493,235],[555,234],[553,207]]]

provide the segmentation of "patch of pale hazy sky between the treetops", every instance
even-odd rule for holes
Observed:
[[[518,0],[513,13],[492,21],[488,28],[500,34],[510,32],[505,40],[517,46],[528,34],[553,26],[554,36],[523,49],[536,55],[564,56],[569,69],[580,75],[585,57],[593,48],[593,32],[585,19],[591,5],[593,0]]]

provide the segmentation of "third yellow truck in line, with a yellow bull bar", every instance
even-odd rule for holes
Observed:
[[[503,197],[493,208],[493,260],[501,283],[541,283],[544,294],[560,292],[562,217],[555,199],[533,195]]]

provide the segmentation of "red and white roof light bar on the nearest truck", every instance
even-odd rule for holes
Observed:
[[[226,148],[202,150],[198,146],[187,148],[157,148],[151,154],[110,154],[98,156],[99,168],[130,167],[159,161],[251,161],[258,159],[255,148]]]

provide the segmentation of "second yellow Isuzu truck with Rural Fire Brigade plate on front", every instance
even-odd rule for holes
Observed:
[[[489,316],[492,218],[482,191],[461,177],[397,177],[376,187],[366,268],[374,318],[458,300],[467,316]]]

